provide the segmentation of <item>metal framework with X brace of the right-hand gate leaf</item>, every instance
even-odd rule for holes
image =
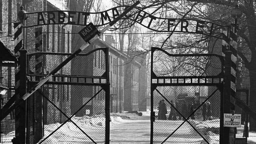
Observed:
[[[154,52],[156,50],[164,52],[169,57],[172,57],[172,56],[173,57],[180,57],[180,56],[185,56],[185,57],[186,56],[215,56],[215,57],[218,57],[220,59],[221,71],[216,76],[156,76],[156,74],[154,73],[154,70],[153,70]],[[163,81],[159,82],[159,79],[161,79]],[[181,79],[183,81],[183,83],[179,83],[179,79]],[[190,82],[187,83],[186,82],[187,79],[190,79]],[[198,82],[193,83],[192,79],[198,79]],[[201,83],[199,79],[204,80],[204,82]],[[207,83],[208,79],[211,79],[212,81],[210,83]],[[214,81],[214,79],[218,79],[218,81]],[[217,90],[220,90],[220,91],[223,90],[223,81],[222,81],[223,79],[224,79],[224,58],[220,55],[217,55],[217,54],[170,54],[170,53],[166,52],[165,50],[157,48],[157,47],[152,47],[151,48],[151,107],[154,105],[154,102],[152,100],[152,98],[154,98],[153,91],[156,90],[156,92],[158,92],[180,114],[180,116],[183,117],[183,119],[185,119],[185,121],[183,123],[181,123],[161,144],[163,144],[166,140],[168,140],[172,136],[172,134],[174,132],[176,132],[185,122],[188,122],[188,119],[196,112],[196,110],[198,110],[207,100],[209,100],[212,97],[212,95],[215,92],[217,92]],[[154,83],[153,83],[153,80],[155,80]],[[166,80],[168,80],[169,82],[167,82]],[[176,80],[177,83],[172,83],[172,80]],[[200,106],[198,106],[187,118],[184,117],[180,113],[180,111],[177,108],[175,108],[174,105],[172,105],[170,103],[170,101],[167,100],[164,97],[164,95],[156,89],[157,86],[195,86],[195,85],[197,85],[197,86],[217,86],[217,89],[214,92],[212,92],[212,94],[206,100],[204,100],[204,102],[202,104],[200,104]],[[220,107],[220,111],[222,111],[221,107]],[[150,143],[153,143],[153,122],[154,122],[154,116],[153,116],[153,111],[151,111]],[[204,139],[204,141],[206,141],[209,144],[209,142],[200,134],[200,132],[198,132],[196,130],[196,128],[190,122],[188,122],[188,124]]]

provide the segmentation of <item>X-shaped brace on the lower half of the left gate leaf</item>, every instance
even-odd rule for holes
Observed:
[[[41,142],[39,142],[39,144],[41,144],[42,142],[44,142],[44,140],[46,140],[47,138],[49,138],[54,132],[56,132],[58,129],[60,129],[64,124],[66,124],[68,121],[71,121],[81,132],[83,132],[90,140],[92,140],[92,138],[86,134],[74,121],[71,120],[71,118],[73,116],[76,115],[77,112],[79,112],[82,108],[84,108],[84,106],[86,106],[86,104],[88,102],[90,102],[96,95],[98,95],[101,91],[103,90],[103,88],[101,88],[96,94],[94,94],[92,96],[92,98],[90,98],[82,107],[80,107],[72,116],[68,117],[60,108],[58,108],[51,100],[49,100],[39,89],[37,90],[46,100],[48,100],[55,108],[57,108],[64,116],[66,116],[68,119],[62,123],[57,129],[55,129],[52,133],[50,133],[47,137],[45,137]],[[94,140],[92,140],[93,143],[97,144]]]

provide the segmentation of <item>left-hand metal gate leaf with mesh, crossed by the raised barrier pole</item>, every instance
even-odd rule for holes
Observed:
[[[29,87],[69,55],[49,52],[28,54]],[[41,75],[36,74],[35,57],[38,56],[43,59]],[[108,73],[108,48],[78,54],[61,68],[34,96],[28,98],[28,142],[109,143]]]

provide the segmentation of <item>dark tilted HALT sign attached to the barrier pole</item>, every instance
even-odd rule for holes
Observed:
[[[85,42],[89,42],[89,40],[95,35],[99,34],[98,29],[90,22],[87,26],[85,26],[82,30],[78,32],[78,34],[84,39]]]

